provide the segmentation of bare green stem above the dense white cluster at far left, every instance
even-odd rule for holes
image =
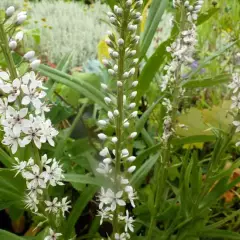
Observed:
[[[17,75],[17,71],[16,71],[16,67],[13,61],[11,51],[8,47],[8,36],[4,30],[3,23],[0,23],[0,43],[1,43],[1,49],[3,52],[4,58],[9,68],[11,80],[14,80],[18,77],[18,75]]]

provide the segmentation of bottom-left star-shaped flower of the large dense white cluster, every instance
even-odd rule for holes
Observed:
[[[15,134],[11,128],[4,128],[4,131],[5,135],[3,137],[2,144],[11,147],[12,153],[15,154],[18,149],[18,145],[20,147],[24,146],[22,140],[20,139],[20,134]]]

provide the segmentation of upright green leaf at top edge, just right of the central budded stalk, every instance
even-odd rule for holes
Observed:
[[[142,41],[140,42],[140,59],[145,56],[167,5],[168,0],[152,1]]]

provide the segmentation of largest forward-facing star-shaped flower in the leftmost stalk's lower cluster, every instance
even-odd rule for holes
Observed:
[[[29,187],[40,187],[46,188],[46,183],[44,179],[44,174],[40,172],[40,168],[38,165],[33,165],[31,167],[31,171],[24,171],[22,176],[29,181]]]

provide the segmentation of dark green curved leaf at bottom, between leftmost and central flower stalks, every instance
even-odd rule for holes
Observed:
[[[74,226],[88,202],[94,197],[97,190],[98,187],[96,186],[88,186],[83,190],[66,221],[64,228],[64,239],[69,239],[75,235]]]

